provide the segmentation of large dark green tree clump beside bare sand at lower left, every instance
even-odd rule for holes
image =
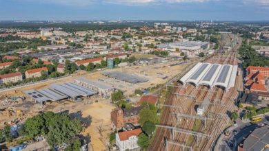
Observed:
[[[71,119],[67,113],[44,113],[26,120],[20,134],[33,139],[39,135],[47,137],[50,146],[70,143],[72,138],[79,135],[82,126],[78,119]]]

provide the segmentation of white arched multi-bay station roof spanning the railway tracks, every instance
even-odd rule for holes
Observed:
[[[237,66],[219,65],[199,62],[190,69],[180,81],[195,84],[195,86],[206,85],[212,89],[214,86],[222,86],[226,91],[235,86]]]

